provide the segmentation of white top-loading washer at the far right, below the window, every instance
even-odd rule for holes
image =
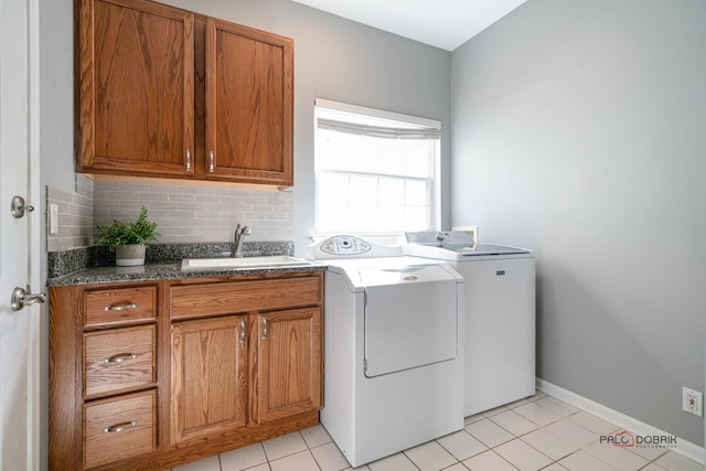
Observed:
[[[535,393],[535,258],[531,250],[475,244],[469,233],[405,234],[408,256],[446,260],[466,291],[463,414]]]

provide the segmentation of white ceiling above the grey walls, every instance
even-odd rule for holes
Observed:
[[[292,0],[453,51],[526,0]]]

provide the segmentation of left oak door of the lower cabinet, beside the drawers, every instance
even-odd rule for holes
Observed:
[[[172,445],[246,426],[246,319],[172,324]]]

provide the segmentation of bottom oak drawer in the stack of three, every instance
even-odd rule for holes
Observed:
[[[154,390],[84,405],[84,468],[154,450]]]

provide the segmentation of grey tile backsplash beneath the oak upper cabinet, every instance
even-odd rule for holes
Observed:
[[[76,174],[76,193],[47,186],[46,196],[58,205],[58,234],[47,235],[50,251],[92,245],[97,225],[135,221],[142,205],[158,224],[161,244],[232,242],[237,223],[253,229],[246,240],[291,240],[293,233],[291,192],[94,182]]]

